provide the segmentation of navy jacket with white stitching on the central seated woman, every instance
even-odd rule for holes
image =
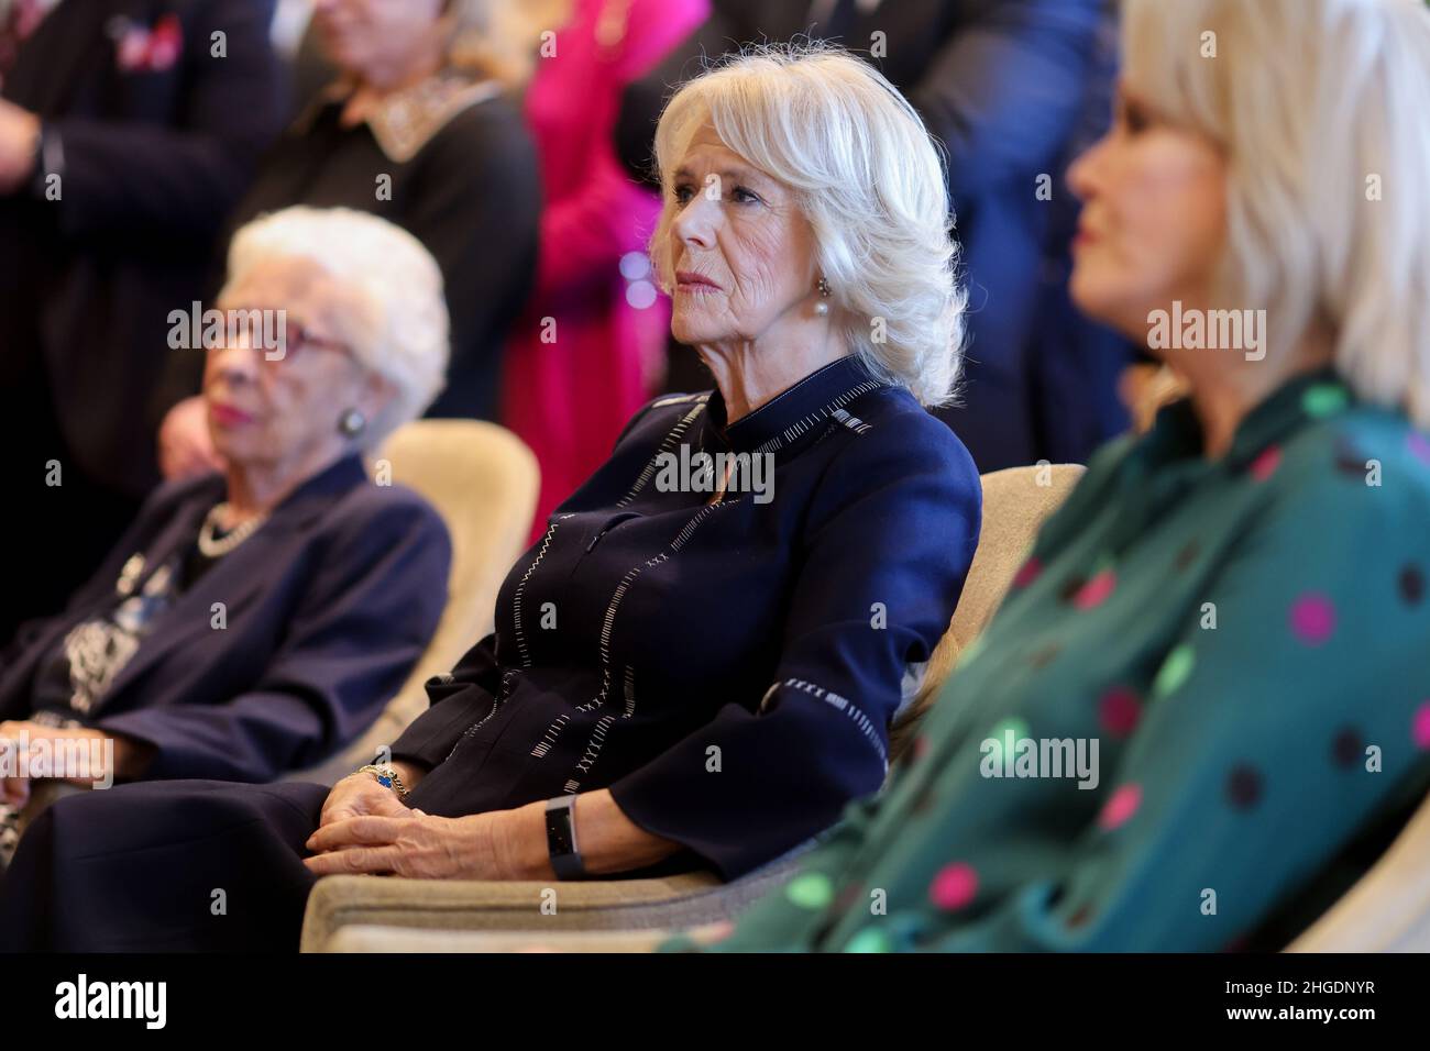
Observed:
[[[671,489],[662,453],[701,450],[768,453],[772,499]],[[609,788],[686,864],[776,858],[882,784],[981,496],[954,433],[854,359],[729,426],[718,392],[656,399],[518,559],[496,632],[429,684],[393,744],[430,768],[410,804]]]

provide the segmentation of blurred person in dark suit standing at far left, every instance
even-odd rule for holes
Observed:
[[[56,612],[159,480],[225,219],[283,119],[272,0],[0,0],[0,638]]]

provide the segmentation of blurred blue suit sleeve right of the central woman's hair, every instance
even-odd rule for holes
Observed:
[[[948,147],[955,206],[1010,177],[1051,170],[1083,104],[1101,7],[1001,0],[955,26],[908,92]]]

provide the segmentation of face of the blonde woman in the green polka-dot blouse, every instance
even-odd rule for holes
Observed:
[[[1227,227],[1227,162],[1123,84],[1113,129],[1068,172],[1083,199],[1072,299],[1091,317],[1147,342],[1147,316],[1203,302]]]

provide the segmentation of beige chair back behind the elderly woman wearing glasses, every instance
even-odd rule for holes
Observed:
[[[373,475],[390,476],[425,496],[452,538],[448,605],[436,633],[406,684],[358,741],[286,781],[330,785],[350,774],[426,711],[423,684],[448,672],[492,631],[496,592],[526,548],[536,509],[536,458],[495,423],[416,420],[398,429],[373,458]]]

